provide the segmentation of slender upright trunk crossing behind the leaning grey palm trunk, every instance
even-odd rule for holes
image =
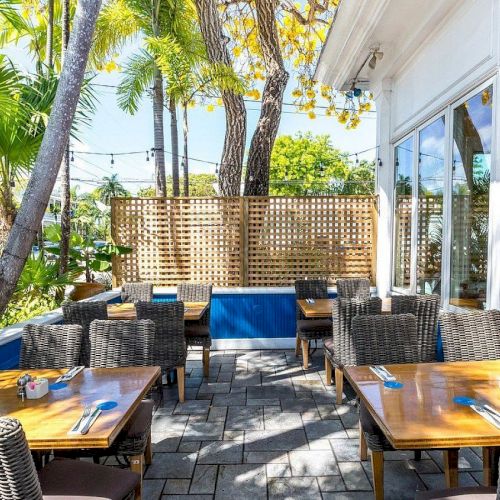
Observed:
[[[66,51],[69,43],[69,9],[70,0],[63,0],[62,3],[62,47],[61,61],[65,62]],[[70,181],[70,153],[69,142],[66,143],[63,162],[59,175],[61,179],[61,244],[59,256],[59,274],[64,274],[69,265],[69,240],[71,238],[71,181]],[[60,297],[62,298],[62,297]]]

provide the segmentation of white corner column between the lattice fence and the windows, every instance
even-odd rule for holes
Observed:
[[[377,145],[382,166],[376,165],[379,219],[377,234],[377,292],[386,297],[392,285],[392,191],[394,168],[391,147],[391,86],[390,80],[382,82],[375,95],[377,104]]]

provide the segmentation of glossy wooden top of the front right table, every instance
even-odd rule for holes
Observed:
[[[457,396],[500,410],[500,360],[385,365],[402,382],[387,389],[367,366],[344,375],[397,449],[500,446],[500,429]]]

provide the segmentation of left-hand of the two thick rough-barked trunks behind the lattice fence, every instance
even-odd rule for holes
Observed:
[[[216,1],[196,0],[196,10],[210,62],[231,66]],[[226,111],[226,137],[219,170],[219,190],[222,196],[239,196],[247,126],[245,103],[243,96],[234,92],[223,92],[222,100]]]

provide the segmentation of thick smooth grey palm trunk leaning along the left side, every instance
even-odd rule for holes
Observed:
[[[80,0],[66,60],[21,208],[0,257],[0,314],[5,311],[54,189],[80,97],[101,0]]]

